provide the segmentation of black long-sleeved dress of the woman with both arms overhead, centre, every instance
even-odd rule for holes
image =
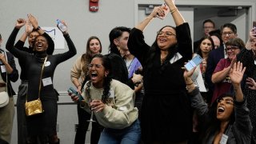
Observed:
[[[178,46],[172,46],[172,56],[161,65],[160,50],[144,41],[141,30],[130,32],[128,47],[142,63],[145,96],[142,102],[142,140],[144,142],[182,142],[190,137],[192,118],[190,98],[183,78],[184,62],[192,58],[190,27],[176,27]],[[175,51],[174,53],[174,50]],[[178,52],[178,53],[176,53]],[[182,55],[182,58],[178,55]],[[153,56],[152,56],[153,55]],[[170,62],[175,59],[174,62]]]

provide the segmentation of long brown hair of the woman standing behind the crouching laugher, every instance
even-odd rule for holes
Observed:
[[[101,48],[99,50],[99,52],[101,53],[102,52],[102,42],[99,40],[98,37],[96,36],[91,36],[90,38],[88,38],[87,42],[86,42],[86,53],[85,54],[82,54],[82,58],[81,58],[81,62],[83,62],[85,65],[82,66],[82,71],[86,72],[87,71],[87,62],[90,62],[93,58],[93,54],[91,53],[90,51],[90,41],[93,40],[93,39],[97,39]]]

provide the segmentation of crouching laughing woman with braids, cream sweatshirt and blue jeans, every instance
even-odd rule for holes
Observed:
[[[82,90],[85,100],[81,105],[88,112],[92,110],[104,127],[98,143],[139,143],[141,131],[138,109],[134,107],[134,90],[110,77],[110,59],[106,56],[95,55],[88,67],[90,81]],[[79,99],[74,94],[71,98]]]

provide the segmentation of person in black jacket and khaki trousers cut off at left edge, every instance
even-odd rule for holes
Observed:
[[[11,134],[14,123],[14,95],[15,91],[11,82],[18,80],[18,70],[16,69],[14,56],[2,50],[2,35],[0,34],[0,92],[7,92],[9,102],[6,106],[0,107],[0,143],[11,142]]]

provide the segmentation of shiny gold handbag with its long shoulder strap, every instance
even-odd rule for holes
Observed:
[[[43,68],[46,64],[46,59],[47,59],[47,57],[45,58],[45,62],[43,62],[42,71],[43,71]],[[42,102],[40,100],[41,83],[42,83],[41,82],[42,81],[42,71],[41,71],[41,77],[40,77],[40,81],[39,81],[38,99],[36,99],[34,101],[27,102],[27,94],[26,94],[26,103],[25,103],[26,116],[43,113]]]

